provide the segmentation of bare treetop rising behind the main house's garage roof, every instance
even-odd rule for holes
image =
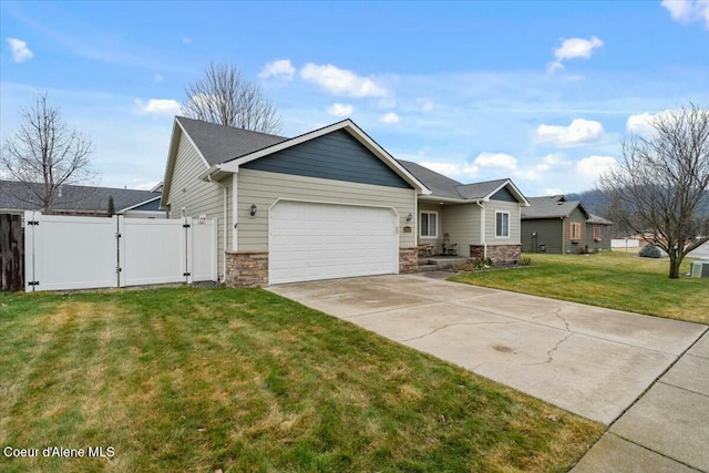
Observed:
[[[182,112],[192,119],[261,133],[279,133],[282,126],[260,86],[228,63],[209,63],[185,94]]]

